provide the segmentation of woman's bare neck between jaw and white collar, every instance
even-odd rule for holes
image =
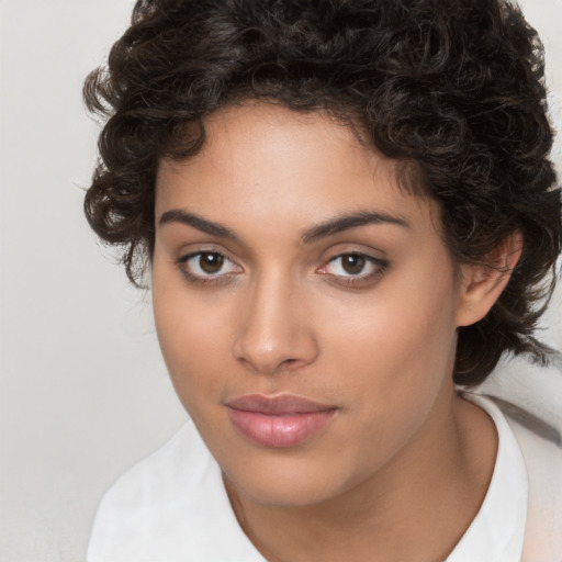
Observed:
[[[260,505],[225,479],[240,527],[269,562],[443,560],[484,499],[497,437],[452,392],[438,406],[392,462],[319,504]]]

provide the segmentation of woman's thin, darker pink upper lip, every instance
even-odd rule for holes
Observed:
[[[240,409],[243,412],[278,416],[286,414],[312,414],[315,412],[336,409],[336,406],[322,404],[294,394],[280,394],[278,396],[246,394],[229,400],[226,405],[233,409]]]

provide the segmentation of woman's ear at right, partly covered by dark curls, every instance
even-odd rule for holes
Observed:
[[[470,326],[488,313],[507,285],[521,251],[522,235],[517,231],[485,257],[486,265],[461,266],[457,326]]]

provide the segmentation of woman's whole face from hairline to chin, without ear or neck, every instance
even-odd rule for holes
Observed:
[[[262,505],[408,464],[453,395],[436,204],[322,113],[248,103],[205,131],[198,156],[160,165],[153,261],[162,353],[202,438]]]

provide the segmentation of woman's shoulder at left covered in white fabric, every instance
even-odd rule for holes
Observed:
[[[221,536],[224,540],[215,540]],[[260,560],[232,513],[221,470],[188,422],[106,492],[88,562]]]

